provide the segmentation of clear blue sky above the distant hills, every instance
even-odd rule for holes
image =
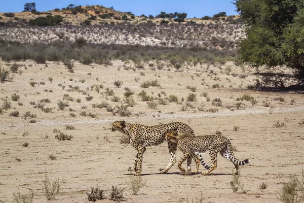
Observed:
[[[187,13],[187,18],[213,16],[219,12],[226,12],[227,15],[237,15],[233,0],[0,0],[0,12],[21,12],[25,3],[36,3],[37,11],[49,11],[55,8],[67,7],[69,4],[82,5],[102,5],[114,7],[117,11],[132,12],[140,16],[158,15],[161,11],[166,13]]]

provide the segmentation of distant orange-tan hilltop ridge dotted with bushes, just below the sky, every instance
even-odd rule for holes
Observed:
[[[64,10],[63,10],[64,9]],[[86,6],[86,7],[73,7],[63,8],[61,10],[54,9],[48,12],[20,12],[13,13],[12,17],[7,17],[0,13],[0,26],[24,26],[29,20],[33,20],[37,17],[46,17],[47,15],[60,15],[63,17],[62,24],[69,25],[98,25],[98,24],[119,24],[119,23],[131,23],[140,24],[142,22],[156,23],[156,24],[171,24],[178,23],[174,21],[174,16],[161,16],[157,18],[154,16],[135,16],[131,12],[120,12],[111,8],[105,8],[103,6]],[[173,15],[173,14],[171,14]],[[173,18],[170,18],[173,17]],[[2,22],[2,23],[1,23]],[[209,23],[240,23],[239,16],[221,16],[221,17],[209,17],[202,18],[185,18],[183,24],[209,24]]]

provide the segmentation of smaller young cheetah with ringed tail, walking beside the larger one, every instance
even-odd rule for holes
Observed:
[[[224,136],[211,135],[211,136],[192,136],[188,133],[178,134],[176,130],[172,130],[166,133],[165,140],[177,143],[178,148],[183,152],[182,158],[178,161],[178,168],[181,173],[185,173],[185,169],[181,166],[188,157],[198,157],[196,160],[201,161],[202,165],[207,169],[206,172],[202,172],[202,175],[207,175],[217,167],[217,153],[219,152],[222,157],[230,160],[235,165],[234,175],[239,174],[239,165],[245,165],[249,163],[249,159],[239,161],[233,154],[232,146],[230,141]],[[209,151],[212,164],[207,165],[202,154]],[[194,172],[198,173],[197,170]]]

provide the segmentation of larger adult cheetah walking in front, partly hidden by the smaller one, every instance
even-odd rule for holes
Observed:
[[[135,176],[141,175],[141,163],[142,155],[146,150],[147,146],[159,145],[164,142],[165,134],[171,130],[176,130],[179,133],[188,133],[194,136],[194,132],[185,123],[176,122],[176,123],[167,123],[154,126],[145,126],[140,124],[127,123],[125,121],[115,121],[111,123],[112,131],[119,130],[130,138],[131,145],[137,149],[137,155],[133,162],[133,168],[135,171]],[[161,171],[161,173],[167,173],[168,170],[176,162],[176,146],[174,142],[168,142],[169,154],[171,156],[168,166]],[[191,156],[187,158],[187,167],[191,168]],[[189,169],[190,170],[190,169]]]

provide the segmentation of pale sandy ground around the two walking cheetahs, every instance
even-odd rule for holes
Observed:
[[[96,186],[106,190],[107,196],[107,199],[97,202],[112,202],[108,199],[112,185],[125,188],[124,199],[127,202],[196,202],[201,195],[203,202],[280,202],[278,196],[284,181],[289,180],[290,174],[300,175],[304,166],[304,126],[299,124],[304,119],[303,94],[249,91],[246,85],[252,84],[255,75],[249,69],[243,72],[232,62],[227,62],[220,69],[203,64],[202,67],[185,68],[182,72],[174,72],[173,68],[168,71],[167,67],[153,71],[148,66],[145,70],[127,71],[122,61],[114,61],[113,65],[107,67],[75,63],[74,73],[68,73],[62,64],[53,62],[48,62],[47,67],[33,61],[18,63],[25,66],[20,67],[20,73],[14,74],[13,81],[0,83],[0,105],[3,105],[6,96],[12,103],[12,109],[0,115],[0,202],[12,202],[13,192],[17,192],[18,188],[22,193],[27,193],[27,188],[43,188],[46,171],[50,180],[59,177],[61,185],[60,193],[52,202],[88,202],[86,191]],[[2,65],[6,67],[5,62]],[[227,67],[231,68],[229,75],[225,73]],[[233,77],[232,73],[248,77],[241,79]],[[49,77],[52,77],[52,81]],[[134,81],[135,77],[140,78],[139,82]],[[113,85],[113,81],[117,80],[123,81],[120,88]],[[161,87],[140,88],[142,82],[151,80],[158,80]],[[38,84],[32,87],[29,84],[31,81]],[[102,84],[104,88],[99,93],[91,90],[95,84]],[[223,87],[212,88],[214,84]],[[69,91],[69,85],[79,86],[93,99],[87,101],[87,95],[82,92]],[[65,88],[62,89],[62,86]],[[197,87],[196,92],[187,86]],[[120,105],[111,101],[112,96],[104,95],[107,87],[113,89],[121,99],[125,87],[134,91],[132,97],[136,105],[128,108],[132,113],[130,117],[113,116],[105,109],[92,108],[92,104],[102,101],[107,101],[112,107]],[[174,94],[180,104],[158,104],[156,109],[148,109],[146,102],[137,96],[142,90],[154,97],[160,94],[161,98]],[[210,101],[206,101],[203,92],[208,94]],[[18,101],[11,100],[13,93],[20,95]],[[182,111],[185,104],[185,101],[181,101],[182,97],[186,100],[189,93],[195,93],[197,101],[190,102],[192,107]],[[69,107],[59,110],[57,102],[63,99],[64,94],[74,99],[81,98],[81,103],[68,101]],[[236,98],[243,94],[253,96],[257,104],[252,106],[249,101],[237,101]],[[278,97],[284,98],[284,101],[276,99]],[[45,106],[53,108],[51,113],[44,113],[30,105],[30,101],[37,103],[44,98],[51,100]],[[222,100],[222,107],[212,106],[214,98]],[[19,106],[19,102],[23,106]],[[240,109],[236,108],[238,102],[243,103]],[[264,107],[264,103],[269,103],[269,107]],[[87,108],[82,109],[84,106]],[[219,111],[200,111],[199,107],[204,110],[217,108]],[[9,116],[13,111],[19,111],[19,117]],[[36,123],[22,118],[26,111],[36,114]],[[82,111],[95,113],[97,117],[81,116]],[[70,113],[76,117],[70,117]],[[159,168],[166,167],[169,162],[167,144],[163,143],[147,148],[144,153],[142,179],[146,180],[146,186],[138,195],[133,195],[126,181],[133,176],[127,168],[132,166],[136,150],[131,145],[120,144],[120,132],[109,130],[110,123],[116,120],[144,125],[185,122],[196,135],[221,131],[236,147],[238,159],[251,160],[250,165],[240,168],[240,180],[246,193],[233,193],[230,186],[233,164],[221,156],[218,157],[218,167],[208,176],[179,175],[177,164],[168,174],[160,174]],[[285,125],[275,127],[277,121]],[[75,129],[65,129],[67,124]],[[237,131],[234,130],[235,126],[239,127]],[[56,133],[53,133],[55,128],[71,134],[72,140],[58,141]],[[25,142],[29,143],[28,147],[23,147]],[[56,159],[49,159],[50,155],[56,156]],[[178,150],[177,157],[181,155]],[[204,160],[210,163],[208,154]],[[200,166],[200,172],[203,170],[205,168]],[[259,185],[263,182],[268,187],[261,191]],[[43,190],[33,192],[34,202],[47,202]]]

